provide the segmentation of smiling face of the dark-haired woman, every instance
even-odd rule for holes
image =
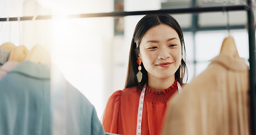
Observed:
[[[169,25],[160,24],[147,30],[138,56],[150,78],[175,78],[181,64],[181,42],[178,33]]]

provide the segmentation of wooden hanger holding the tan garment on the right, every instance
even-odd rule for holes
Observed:
[[[227,37],[223,40],[220,53],[229,55],[231,57],[239,57],[235,41],[232,37]]]

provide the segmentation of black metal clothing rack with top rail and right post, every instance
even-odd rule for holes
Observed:
[[[202,13],[202,12],[222,12],[222,11],[247,11],[248,19],[248,38],[249,38],[249,78],[250,78],[250,131],[256,135],[256,72],[255,72],[255,25],[252,0],[247,0],[247,5],[239,6],[218,6],[218,7],[191,7],[177,8],[168,10],[150,10],[150,11],[122,11],[122,12],[105,12],[105,13],[84,13],[76,15],[68,15],[69,19],[85,18],[85,17],[122,17],[134,15],[146,15],[154,13]],[[25,20],[51,20],[51,15],[44,16],[23,16],[23,17],[3,17],[0,21],[25,21]]]

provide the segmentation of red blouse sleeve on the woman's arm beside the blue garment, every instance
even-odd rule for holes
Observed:
[[[116,91],[109,97],[106,108],[104,111],[102,124],[105,132],[117,133],[118,132],[118,117],[120,107],[120,96],[122,91]]]

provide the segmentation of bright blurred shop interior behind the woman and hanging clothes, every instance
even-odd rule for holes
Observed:
[[[124,88],[133,30],[143,16],[68,19],[67,15],[114,11],[143,11],[196,6],[226,6],[246,1],[193,0],[1,0],[0,17],[53,15],[52,20],[0,22],[0,44],[11,42],[31,50],[41,44],[74,87],[96,107],[98,117],[107,98]],[[230,26],[241,58],[249,59],[246,12],[228,12]],[[195,15],[174,14],[181,25],[187,52],[188,83],[206,69],[228,37],[227,12],[199,13],[197,26],[216,28],[192,31]],[[221,29],[217,29],[221,28]],[[51,72],[55,74],[55,72]]]

